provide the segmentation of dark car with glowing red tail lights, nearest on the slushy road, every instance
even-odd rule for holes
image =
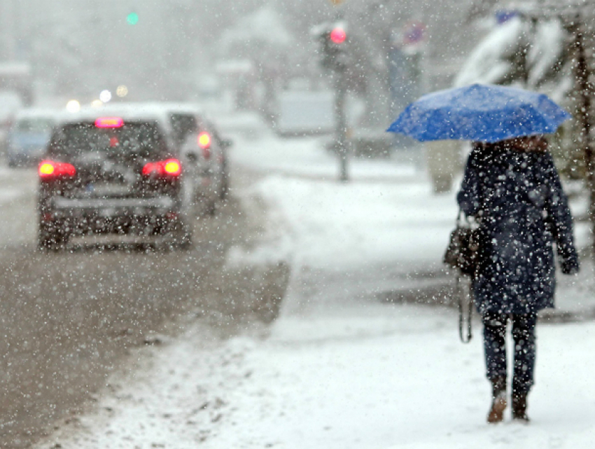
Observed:
[[[38,173],[41,249],[92,233],[191,243],[182,163],[158,118],[66,120],[52,133]]]

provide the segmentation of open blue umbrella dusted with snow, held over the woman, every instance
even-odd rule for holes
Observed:
[[[547,95],[474,84],[424,95],[409,104],[387,131],[419,141],[496,142],[556,132],[570,117]]]

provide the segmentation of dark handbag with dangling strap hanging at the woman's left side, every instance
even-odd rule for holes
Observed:
[[[458,336],[461,338],[461,342],[469,343],[473,336],[471,329],[472,287],[469,286],[469,293],[465,294],[461,284],[461,277],[470,277],[470,279],[475,277],[479,265],[480,230],[479,223],[471,222],[469,219],[465,219],[463,222],[462,216],[463,212],[459,209],[456,228],[450,235],[450,242],[444,253],[444,263],[456,270],[455,293],[458,296]],[[465,327],[466,333],[463,333]]]

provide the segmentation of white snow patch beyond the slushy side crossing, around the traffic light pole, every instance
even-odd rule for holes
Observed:
[[[440,261],[456,217],[454,195],[432,195],[412,163],[351,160],[351,181],[341,184],[337,158],[321,138],[280,141],[265,134],[239,139],[232,151],[236,163],[265,175],[244,200],[264,198],[280,215],[272,226],[286,229],[273,251],[290,254],[294,263],[354,268]]]

